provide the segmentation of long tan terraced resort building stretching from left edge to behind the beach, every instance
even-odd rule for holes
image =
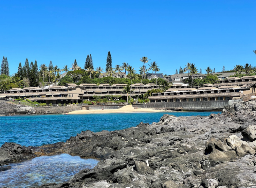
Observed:
[[[9,91],[0,91],[0,99],[28,98],[31,101],[52,104],[80,103],[85,99],[93,100],[93,96],[116,96],[126,98],[123,92],[126,84],[66,84],[65,86],[51,86],[48,88],[30,87],[13,88]],[[145,94],[148,90],[158,88],[156,84],[132,84],[131,96]]]

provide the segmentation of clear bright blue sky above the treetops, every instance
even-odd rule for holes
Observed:
[[[164,74],[187,62],[203,72],[256,66],[255,18],[255,0],[0,1],[0,59],[10,74],[26,58],[84,67],[87,54],[105,70],[108,51],[113,67],[139,70],[147,56]]]

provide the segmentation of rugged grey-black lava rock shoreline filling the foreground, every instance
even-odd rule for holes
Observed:
[[[158,123],[83,131],[67,142],[40,147],[5,143],[0,166],[67,153],[102,161],[69,182],[40,188],[256,188],[255,121],[255,101],[235,103],[207,117],[165,114]]]

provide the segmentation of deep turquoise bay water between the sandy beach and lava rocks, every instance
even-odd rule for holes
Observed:
[[[122,130],[140,122],[159,122],[163,114],[175,116],[208,116],[219,112],[159,112],[118,114],[20,115],[0,117],[0,146],[15,142],[40,146],[63,141],[81,131]]]

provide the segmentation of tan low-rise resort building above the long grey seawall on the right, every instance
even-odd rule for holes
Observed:
[[[154,93],[149,96],[150,102],[188,102],[240,99],[244,95],[253,93],[251,85],[170,88],[163,93]]]

